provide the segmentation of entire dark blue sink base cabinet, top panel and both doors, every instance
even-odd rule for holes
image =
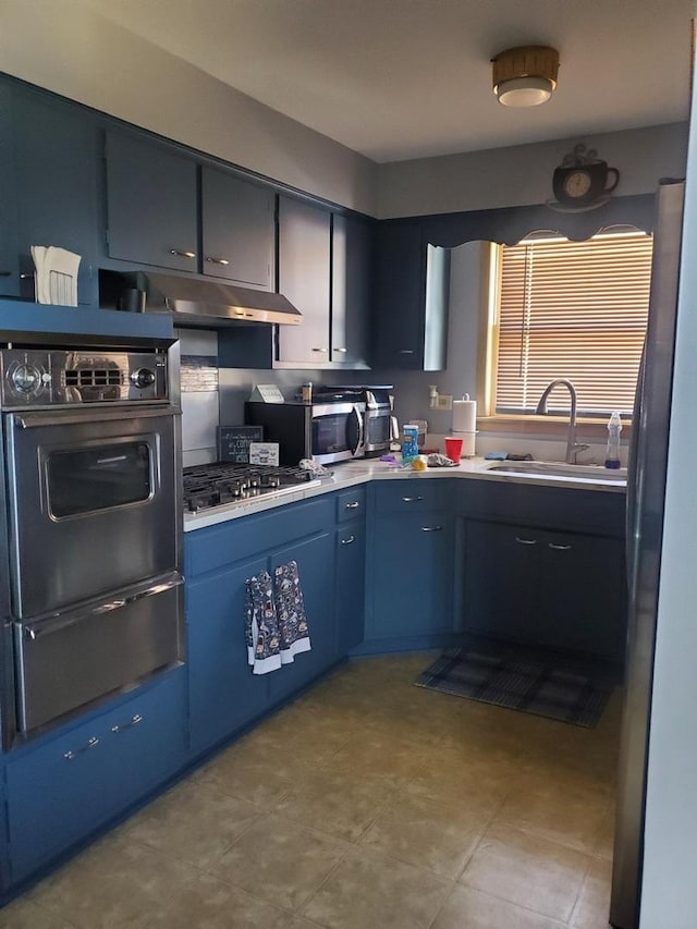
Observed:
[[[621,669],[624,494],[463,481],[460,498],[464,631]]]

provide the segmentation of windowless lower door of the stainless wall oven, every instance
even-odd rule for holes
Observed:
[[[109,600],[14,623],[17,728],[30,732],[184,657],[183,579],[150,578]]]

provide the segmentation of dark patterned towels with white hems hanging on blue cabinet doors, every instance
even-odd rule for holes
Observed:
[[[248,578],[245,637],[253,674],[277,671],[310,650],[296,562],[279,565],[273,580],[268,571]]]

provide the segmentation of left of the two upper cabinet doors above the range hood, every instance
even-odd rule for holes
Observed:
[[[107,133],[112,258],[197,270],[196,162],[157,143]]]

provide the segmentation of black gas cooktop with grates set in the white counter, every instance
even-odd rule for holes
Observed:
[[[279,497],[307,487],[319,487],[311,472],[299,467],[273,467],[218,463],[184,468],[184,506],[189,513]]]

